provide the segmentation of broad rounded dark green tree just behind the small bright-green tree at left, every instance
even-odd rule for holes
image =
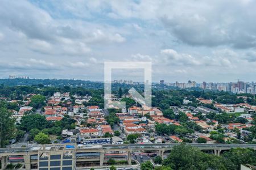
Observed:
[[[40,114],[29,114],[22,117],[19,128],[22,130],[30,131],[31,129],[43,130],[47,126],[45,116]]]

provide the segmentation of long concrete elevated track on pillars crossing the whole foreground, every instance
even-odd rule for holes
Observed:
[[[165,151],[170,151],[176,145],[180,143],[161,143],[161,144],[123,144],[123,145],[98,145],[98,146],[79,146],[75,144],[52,144],[52,145],[41,145],[37,147],[28,148],[0,148],[0,158],[2,163],[2,169],[5,169],[7,165],[7,158],[9,156],[23,156],[26,169],[31,169],[31,163],[35,160],[31,160],[31,155],[38,155],[38,162],[40,155],[44,152],[59,152],[63,153],[66,151],[72,151],[74,154],[74,164],[78,162],[86,162],[90,160],[99,161],[100,166],[104,163],[105,153],[108,152],[126,152],[127,162],[131,164],[131,153],[136,151],[159,151],[159,155],[162,156]],[[197,147],[200,150],[213,150],[214,154],[220,155],[223,150],[230,150],[231,148],[253,148],[256,150],[256,145],[246,145],[246,144],[205,144],[205,143],[186,143],[186,145]],[[67,147],[69,146],[69,147]],[[72,146],[72,147],[70,147]],[[91,153],[91,155],[96,155],[95,158],[84,158],[78,155],[84,153]],[[97,153],[97,154],[95,154]]]

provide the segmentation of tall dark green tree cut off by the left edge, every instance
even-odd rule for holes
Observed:
[[[0,102],[0,147],[4,147],[9,139],[14,138],[14,123],[6,103]]]

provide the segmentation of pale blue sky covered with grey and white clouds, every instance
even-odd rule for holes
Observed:
[[[255,81],[255,18],[253,0],[1,0],[0,78],[103,80],[104,61],[151,61],[155,82]]]

